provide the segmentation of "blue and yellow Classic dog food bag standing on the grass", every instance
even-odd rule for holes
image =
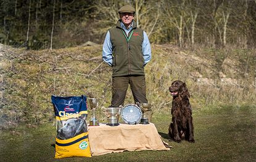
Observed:
[[[55,158],[91,157],[86,124],[86,96],[51,96],[56,115]]]

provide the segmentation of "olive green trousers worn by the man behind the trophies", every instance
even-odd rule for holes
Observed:
[[[112,77],[111,107],[123,106],[128,84],[130,84],[134,102],[147,103],[145,75],[126,75]]]

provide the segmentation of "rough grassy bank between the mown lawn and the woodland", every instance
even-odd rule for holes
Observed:
[[[100,107],[109,106],[112,69],[102,62],[101,48],[33,51],[1,45],[1,123],[52,120],[51,95],[85,94],[99,98]],[[255,64],[255,50],[152,45],[152,60],[145,69],[147,98],[154,112],[168,111],[168,87],[178,79],[187,83],[194,109],[207,104],[256,104]],[[127,103],[133,103],[130,90]]]

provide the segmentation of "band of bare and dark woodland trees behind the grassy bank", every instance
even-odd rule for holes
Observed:
[[[35,50],[101,44],[126,4],[136,9],[134,20],[152,43],[256,44],[256,0],[0,0],[0,43]]]

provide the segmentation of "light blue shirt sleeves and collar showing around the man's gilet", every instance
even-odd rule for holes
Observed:
[[[131,31],[133,24],[131,24],[130,28],[126,29],[125,25],[121,23],[122,28],[125,30],[126,35]],[[145,31],[143,31],[143,42],[142,42],[142,54],[144,58],[144,66],[151,60],[151,44],[149,42],[149,38]],[[102,48],[102,58],[103,60],[112,66],[112,43],[110,41],[110,33],[107,31],[105,36],[105,41]]]

